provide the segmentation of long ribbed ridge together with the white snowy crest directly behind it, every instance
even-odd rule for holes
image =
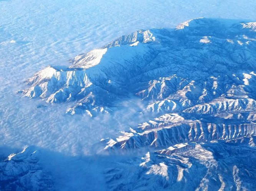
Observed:
[[[102,139],[107,144],[104,149],[163,148],[183,142],[227,141],[256,136],[256,124],[249,121],[242,123],[244,120],[218,118],[191,120],[191,117],[187,117],[190,116],[185,115],[184,118],[177,113],[165,114],[154,121],[140,124],[130,132],[121,132],[123,135],[116,140]]]

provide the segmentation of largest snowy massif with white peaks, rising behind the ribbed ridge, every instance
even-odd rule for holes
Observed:
[[[144,100],[149,111],[197,105],[186,111],[204,107],[209,113],[220,97],[255,98],[255,25],[201,18],[176,29],[136,31],[74,57],[69,68],[48,66],[21,92],[49,103],[76,101],[71,114],[109,113],[129,95]],[[198,105],[211,101],[211,108]]]

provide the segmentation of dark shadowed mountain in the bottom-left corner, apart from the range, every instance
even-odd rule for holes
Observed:
[[[0,162],[0,190],[55,190],[53,177],[38,164],[37,151],[26,147]]]

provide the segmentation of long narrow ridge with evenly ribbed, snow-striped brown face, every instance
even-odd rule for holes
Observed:
[[[123,133],[116,141],[104,139],[111,149],[137,149],[140,147],[167,147],[184,142],[205,142],[212,140],[233,140],[241,137],[255,136],[256,124],[215,124],[195,121],[180,125],[166,125],[142,131],[141,133]]]

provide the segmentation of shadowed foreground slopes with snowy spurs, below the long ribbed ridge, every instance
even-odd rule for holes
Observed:
[[[241,143],[186,143],[117,162],[105,170],[105,176],[109,189],[115,191],[254,190],[255,162],[255,147]]]

